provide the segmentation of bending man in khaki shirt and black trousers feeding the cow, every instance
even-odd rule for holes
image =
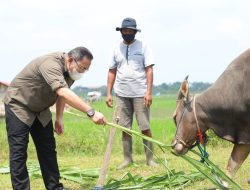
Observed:
[[[62,190],[56,157],[56,144],[49,107],[56,103],[55,131],[63,133],[65,103],[84,112],[96,124],[106,119],[83,102],[69,87],[81,78],[91,65],[93,56],[84,47],[69,53],[56,52],[31,61],[11,82],[4,99],[6,128],[10,150],[13,189],[30,189],[26,167],[29,133],[46,189]]]

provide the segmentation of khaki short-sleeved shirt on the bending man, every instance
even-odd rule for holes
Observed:
[[[46,126],[52,118],[49,108],[56,102],[56,90],[69,88],[74,82],[64,77],[66,71],[66,53],[55,52],[34,59],[13,79],[4,103],[28,126],[36,118]]]

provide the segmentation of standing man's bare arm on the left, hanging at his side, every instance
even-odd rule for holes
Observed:
[[[107,80],[107,100],[106,104],[108,107],[113,107],[113,99],[112,99],[112,89],[115,83],[115,77],[116,77],[116,68],[115,69],[109,69],[108,72],[108,80]]]

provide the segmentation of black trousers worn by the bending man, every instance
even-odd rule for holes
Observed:
[[[26,166],[29,133],[36,146],[37,157],[46,189],[63,189],[63,185],[59,183],[60,174],[56,158],[56,144],[52,121],[46,127],[43,127],[39,120],[35,119],[32,126],[29,127],[16,117],[8,105],[5,105],[5,114],[13,189],[30,189]]]

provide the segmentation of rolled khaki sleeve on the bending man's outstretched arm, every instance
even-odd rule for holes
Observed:
[[[63,77],[61,66],[56,61],[45,61],[39,66],[39,72],[53,91],[59,88],[69,88]]]

